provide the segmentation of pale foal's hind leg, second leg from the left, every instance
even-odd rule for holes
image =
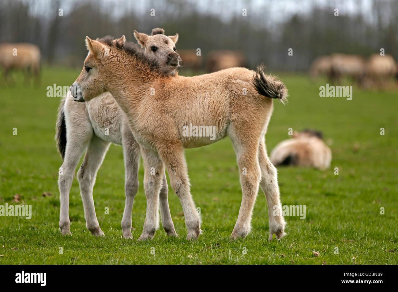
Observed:
[[[100,168],[105,153],[110,143],[93,135],[86,155],[77,177],[82,195],[84,216],[86,217],[86,227],[95,236],[103,236],[103,232],[98,224],[96,210],[94,208],[93,188],[96,181],[97,171]]]

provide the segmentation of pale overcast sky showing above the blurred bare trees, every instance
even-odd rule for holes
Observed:
[[[61,0],[60,8],[63,9],[64,15],[76,3],[82,3],[85,0]],[[177,0],[174,0],[176,2]],[[264,23],[271,24],[279,21],[285,21],[286,18],[293,14],[302,14],[310,12],[311,8],[318,6],[319,8],[338,8],[339,14],[356,14],[363,13],[369,16],[371,21],[372,2],[376,0],[185,0],[196,8],[197,11],[207,14],[213,14],[220,19],[228,19],[233,15],[241,15],[242,9],[247,9],[247,15],[266,16]],[[52,0],[23,0],[29,3],[32,14],[41,14],[46,17],[50,12],[43,9],[50,7]],[[139,14],[150,13],[150,8],[158,8],[157,12],[161,13],[164,1],[159,0],[97,0],[100,7],[105,10],[111,10],[114,17],[119,17],[126,12],[136,12]],[[359,11],[358,11],[359,10]],[[333,13],[333,10],[332,10]]]

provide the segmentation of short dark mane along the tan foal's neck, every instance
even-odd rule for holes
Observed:
[[[145,56],[143,50],[138,44],[127,41],[124,44],[120,44],[117,42],[114,43],[113,42],[114,40],[115,38],[110,35],[96,39],[96,41],[107,44],[112,48],[117,48],[122,52],[124,52],[125,54],[132,56],[137,61],[139,61],[143,66],[148,67],[150,71],[168,75],[168,72],[166,72],[164,68],[159,66],[158,60],[156,60],[155,57]]]

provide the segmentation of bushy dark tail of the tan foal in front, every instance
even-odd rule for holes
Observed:
[[[279,99],[283,104],[287,102],[287,88],[285,84],[274,76],[265,75],[263,65],[257,67],[257,72],[253,76],[253,84],[259,94]]]

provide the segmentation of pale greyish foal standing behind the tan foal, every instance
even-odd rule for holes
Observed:
[[[158,66],[168,75],[176,75],[179,65],[178,55],[174,52],[178,34],[167,37],[163,29],[153,29],[152,35],[137,33],[146,39],[144,54],[153,56]],[[107,41],[123,45],[125,38],[113,40],[105,37]],[[166,42],[167,41],[167,42]],[[156,49],[154,49],[156,47]],[[62,99],[57,118],[56,141],[59,153],[63,159],[62,174],[59,175],[60,191],[60,220],[59,227],[62,234],[70,234],[69,220],[69,191],[74,178],[74,172],[80,157],[86,151],[82,166],[78,171],[78,180],[84,205],[86,226],[92,234],[102,236],[103,232],[97,220],[93,201],[93,187],[98,168],[105,157],[110,143],[123,145],[125,162],[125,192],[126,204],[123,212],[121,226],[123,237],[131,236],[131,213],[134,197],[137,193],[138,169],[140,150],[127,123],[125,113],[119,108],[115,99],[109,92],[102,93],[97,99],[90,102],[73,102],[73,97],[68,92]],[[168,185],[166,174],[162,173],[162,189],[160,190],[160,211],[162,225],[170,236],[177,236],[170,215],[168,205]]]

